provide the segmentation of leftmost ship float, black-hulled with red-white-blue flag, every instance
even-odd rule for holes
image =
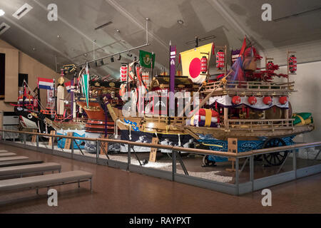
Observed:
[[[84,128],[83,118],[76,116],[76,103],[73,102],[73,93],[71,92],[73,81],[65,83],[64,79],[65,73],[73,72],[71,69],[68,66],[68,68],[61,70],[57,86],[54,79],[37,78],[37,87],[31,90],[28,83],[24,81],[19,91],[17,104],[12,104],[16,114],[19,115],[22,128],[38,130],[39,133],[50,133],[52,130],[59,133],[63,130],[82,130]],[[71,93],[71,104],[68,102],[68,95],[65,98],[65,87],[68,94]],[[41,103],[41,89],[46,90],[46,106]]]

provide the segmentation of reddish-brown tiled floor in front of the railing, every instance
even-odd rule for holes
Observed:
[[[263,207],[261,192],[226,195],[133,172],[78,162],[0,144],[0,150],[34,160],[58,162],[62,171],[93,173],[89,183],[56,187],[58,207],[47,204],[46,189],[0,194],[0,213],[320,213],[321,174],[270,187],[272,207]]]

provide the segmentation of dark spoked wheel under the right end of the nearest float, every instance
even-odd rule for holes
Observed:
[[[270,138],[269,140],[265,141],[263,148],[281,147],[285,145],[285,141],[281,138]],[[263,157],[269,165],[277,166],[284,162],[285,158],[287,157],[287,151],[271,152],[269,154],[264,154]]]

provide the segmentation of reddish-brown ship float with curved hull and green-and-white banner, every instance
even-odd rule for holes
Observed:
[[[119,94],[120,83],[93,77],[90,80],[88,66],[81,69],[77,78],[75,101],[80,113],[86,116],[86,138],[106,138],[114,133],[114,122],[106,108],[108,102],[115,108],[123,105]],[[86,141],[88,152],[96,152],[96,142]]]

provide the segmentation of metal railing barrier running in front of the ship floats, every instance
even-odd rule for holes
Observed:
[[[40,136],[46,137],[46,138],[51,138],[51,142],[54,142],[54,138],[68,138],[71,139],[71,158],[73,158],[73,150],[76,148],[73,148],[73,142],[74,140],[86,140],[86,141],[95,141],[97,144],[97,153],[96,153],[96,162],[98,164],[98,157],[100,154],[100,148],[102,143],[108,142],[108,143],[121,143],[124,145],[128,145],[128,163],[127,163],[127,170],[129,171],[134,171],[134,172],[141,172],[141,173],[146,173],[143,172],[142,170],[139,170],[136,165],[131,164],[131,149],[133,146],[139,146],[139,147],[149,147],[149,148],[157,148],[157,149],[165,149],[165,150],[170,150],[172,152],[172,172],[171,172],[171,178],[170,180],[173,181],[178,181],[178,182],[184,182],[188,183],[190,185],[196,185],[196,186],[201,186],[201,187],[208,187],[212,190],[217,190],[220,192],[225,192],[233,195],[240,195],[246,192],[252,192],[254,190],[258,190],[263,187],[268,187],[271,185],[276,185],[280,184],[281,182],[286,182],[289,180],[295,180],[297,178],[297,174],[299,173],[299,177],[304,177],[306,175],[311,175],[317,172],[321,172],[321,164],[320,165],[314,165],[310,168],[309,170],[306,169],[300,169],[297,170],[297,156],[296,152],[297,149],[302,149],[302,148],[308,148],[308,147],[320,147],[321,146],[321,141],[320,142],[307,142],[307,143],[298,143],[296,145],[286,145],[286,146],[281,146],[281,147],[270,147],[270,148],[264,148],[264,149],[259,149],[259,150],[251,150],[248,152],[222,152],[222,151],[215,151],[215,150],[203,150],[203,149],[196,149],[196,148],[186,148],[186,147],[178,147],[178,146],[172,146],[172,145],[159,145],[159,144],[151,144],[151,143],[144,143],[144,142],[132,142],[132,141],[127,141],[127,140],[113,140],[113,139],[107,139],[107,138],[81,138],[81,137],[74,137],[74,136],[68,136],[68,135],[51,135],[51,134],[44,134],[44,133],[31,133],[31,132],[23,132],[23,131],[16,131],[16,130],[0,130],[0,132],[4,133],[19,133],[23,135],[23,143],[22,145],[26,146],[26,135],[36,135],[36,148],[39,148],[39,138]],[[2,138],[3,140],[6,140],[6,138]],[[45,145],[46,146],[46,145]],[[48,148],[46,146],[47,150],[52,150],[54,151],[54,143],[51,144],[51,148]],[[102,147],[104,154],[108,158],[108,161],[110,160],[110,157],[108,157],[107,152],[105,149]],[[254,157],[258,155],[265,155],[268,153],[272,152],[292,152],[292,157],[293,157],[293,170],[290,172],[287,172],[287,177],[284,179],[284,181],[280,181],[280,178],[278,175],[272,175],[270,176],[270,179],[266,179],[266,177],[261,178],[259,180],[255,180],[254,178]],[[209,181],[209,180],[204,180],[202,178],[198,177],[190,177],[188,176],[187,170],[185,170],[185,165],[183,164],[183,160],[181,160],[181,157],[178,152],[189,152],[193,154],[199,154],[199,155],[217,155],[221,157],[229,157],[233,158],[235,160],[235,184],[230,184],[230,183],[222,183],[222,182],[216,182],[216,181]],[[83,154],[83,152],[81,151]],[[136,155],[136,152],[134,152]],[[320,153],[320,152],[319,152]],[[319,153],[317,155],[319,155]],[[137,157],[137,155],[136,155]],[[138,157],[137,157],[138,158]],[[246,159],[245,162],[243,162],[243,166],[240,167],[240,159]],[[107,165],[110,163],[108,163]],[[138,160],[139,161],[139,160]],[[185,175],[180,175],[177,173],[177,167],[176,167],[176,162],[179,161],[181,167],[183,168]],[[250,180],[249,182],[245,183],[240,183],[239,177],[240,173],[243,171],[245,165],[249,162],[249,174],[250,174]],[[139,164],[141,165],[141,162],[139,161]],[[285,161],[280,165],[280,169],[278,172],[280,172],[282,166],[285,164]],[[108,165],[108,166],[109,166]],[[143,169],[148,170],[151,175],[160,177],[159,175],[156,175],[155,170],[147,167],[141,167]],[[153,170],[151,172],[151,170]],[[311,171],[312,170],[312,171]],[[300,171],[300,172],[298,172]],[[166,171],[168,172],[168,171]],[[278,173],[277,172],[277,173]],[[290,177],[289,177],[290,175]],[[270,180],[270,182],[268,181]],[[282,178],[281,178],[282,180]],[[264,184],[262,184],[264,182]]]

